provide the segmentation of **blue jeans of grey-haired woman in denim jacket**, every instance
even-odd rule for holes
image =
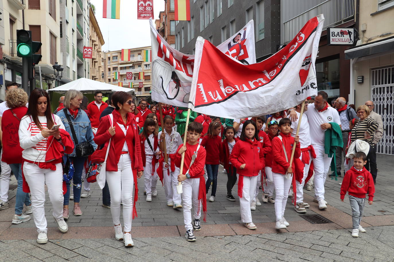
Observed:
[[[82,170],[84,169],[86,158],[70,157],[71,163],[74,165],[74,176],[72,177],[72,183],[74,185],[74,203],[79,203],[81,198],[82,190]],[[63,156],[64,163],[67,161],[67,156]],[[67,193],[64,195],[63,205],[69,205],[70,201],[70,182],[66,182]]]

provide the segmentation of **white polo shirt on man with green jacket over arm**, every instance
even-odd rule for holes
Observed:
[[[308,105],[308,111],[305,112],[309,120],[310,139],[312,144],[324,145],[324,132],[320,125],[324,123],[337,123],[341,124],[338,111],[329,106],[327,110],[319,112],[315,109],[315,104]]]

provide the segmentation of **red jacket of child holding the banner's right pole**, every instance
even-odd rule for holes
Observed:
[[[279,136],[282,136],[284,148],[286,148],[287,158],[290,161],[290,156],[292,155],[292,150],[293,150],[293,144],[295,143],[294,137],[292,137],[290,133],[285,135],[282,132],[279,134]],[[288,167],[290,167],[290,163],[286,161],[286,158],[284,156],[282,141],[281,139],[279,139],[279,137],[274,137],[272,139],[272,172],[284,175],[286,174],[286,170],[288,169]],[[298,143],[296,145],[296,151],[294,152],[294,158],[292,164],[293,173],[295,170],[294,159],[297,159],[300,156],[301,156],[301,148]]]

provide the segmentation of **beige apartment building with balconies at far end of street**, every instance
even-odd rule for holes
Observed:
[[[121,60],[121,51],[103,52],[104,79],[108,84],[128,87],[132,83],[137,97],[149,97],[151,94],[151,62],[145,62],[143,51],[151,51],[151,46],[130,49],[130,61]],[[115,73],[119,77],[115,79]],[[127,73],[132,73],[132,79],[127,79]],[[140,74],[142,73],[142,75]]]

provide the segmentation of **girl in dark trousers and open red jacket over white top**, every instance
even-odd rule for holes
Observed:
[[[224,134],[226,139],[221,143],[220,161],[227,172],[227,200],[235,201],[231,191],[237,181],[237,169],[230,163],[229,158],[238,138],[234,138],[235,129],[232,126],[226,127]]]

